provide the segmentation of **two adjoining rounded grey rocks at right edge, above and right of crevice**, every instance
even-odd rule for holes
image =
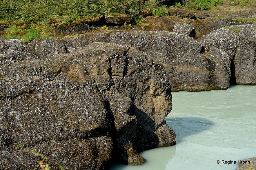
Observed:
[[[232,30],[236,30],[235,32]],[[231,81],[238,85],[256,84],[256,24],[235,25],[230,29],[215,30],[197,41],[205,49],[212,47],[224,50],[231,61]]]

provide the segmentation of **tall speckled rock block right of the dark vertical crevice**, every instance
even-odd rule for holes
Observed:
[[[237,49],[234,58],[235,82],[256,85],[256,24],[236,25]]]

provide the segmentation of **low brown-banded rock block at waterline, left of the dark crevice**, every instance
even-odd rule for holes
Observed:
[[[173,91],[227,89],[230,85],[230,58],[217,48],[204,55],[184,54],[166,74]]]

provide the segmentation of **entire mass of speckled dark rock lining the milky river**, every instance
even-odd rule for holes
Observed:
[[[0,163],[6,169],[108,169],[175,145],[171,90],[255,85],[255,24],[195,41],[161,31],[0,39]],[[16,166],[13,167],[13,164]]]

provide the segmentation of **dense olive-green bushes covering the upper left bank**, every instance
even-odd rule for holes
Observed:
[[[60,16],[83,17],[126,12],[133,16],[142,9],[143,0],[2,0],[0,19],[35,22]]]

